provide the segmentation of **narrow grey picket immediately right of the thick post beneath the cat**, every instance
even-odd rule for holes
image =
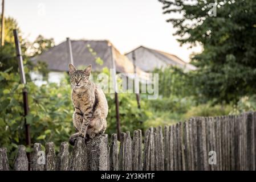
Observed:
[[[117,135],[111,135],[111,144],[109,148],[109,170],[117,171],[118,170],[118,146],[117,146]]]

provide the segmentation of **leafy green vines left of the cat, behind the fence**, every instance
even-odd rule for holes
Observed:
[[[19,79],[18,73],[11,73],[10,70],[0,72],[0,146],[7,147],[11,155],[14,155],[18,144],[25,144],[24,85],[19,84]],[[33,82],[27,82],[26,89],[30,107],[26,121],[31,128],[31,142],[53,141],[58,150],[60,142],[68,140],[74,133],[70,84],[63,80],[60,86],[48,84],[38,87]]]

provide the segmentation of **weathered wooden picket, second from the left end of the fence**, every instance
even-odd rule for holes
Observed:
[[[23,145],[18,146],[18,153],[14,160],[15,171],[28,171],[29,159],[27,159],[26,147]]]

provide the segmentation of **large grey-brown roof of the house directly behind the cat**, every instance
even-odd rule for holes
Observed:
[[[112,50],[116,71],[124,74],[134,72],[133,64],[128,57],[122,55],[108,40],[71,40],[71,46],[74,65],[76,67],[91,64],[92,70],[94,71],[101,71],[104,67],[113,68],[111,58]],[[96,55],[90,52],[90,48],[93,52],[96,52]],[[103,65],[96,63],[96,57],[100,57],[103,60]],[[38,61],[46,62],[48,69],[51,71],[68,71],[68,64],[70,62],[68,59],[67,42],[62,42],[42,54],[32,57],[31,60],[35,63]],[[140,68],[136,68],[136,71],[140,76],[147,75]]]

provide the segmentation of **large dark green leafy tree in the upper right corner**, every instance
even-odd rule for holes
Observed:
[[[159,1],[163,13],[172,16],[166,21],[173,24],[178,41],[204,48],[193,56],[193,64],[206,98],[230,102],[255,92],[256,1]]]

